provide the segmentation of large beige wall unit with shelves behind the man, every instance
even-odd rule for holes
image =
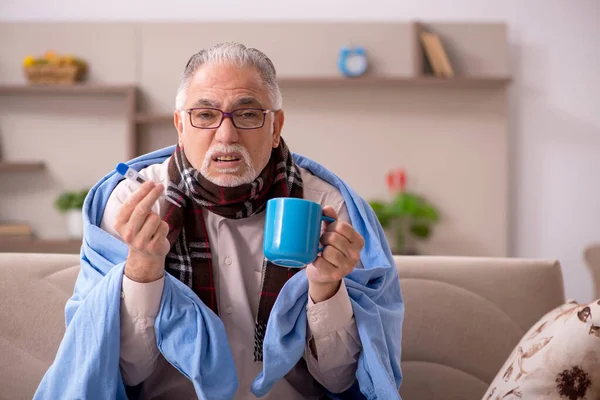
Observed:
[[[428,73],[422,27],[439,34],[453,77]],[[76,244],[64,241],[67,224],[54,199],[89,188],[119,162],[174,144],[184,66],[200,49],[230,40],[275,64],[292,151],[325,165],[365,199],[387,194],[385,174],[399,163],[415,177],[411,185],[442,213],[422,253],[508,255],[507,26],[427,20],[0,22],[0,160],[21,165],[0,174],[0,223],[28,224],[34,233],[14,250],[0,237],[0,252],[58,249],[47,246],[50,239],[72,252]],[[369,69],[359,78],[338,70],[349,44],[367,52]],[[23,60],[48,50],[84,59],[85,83],[27,84]]]

